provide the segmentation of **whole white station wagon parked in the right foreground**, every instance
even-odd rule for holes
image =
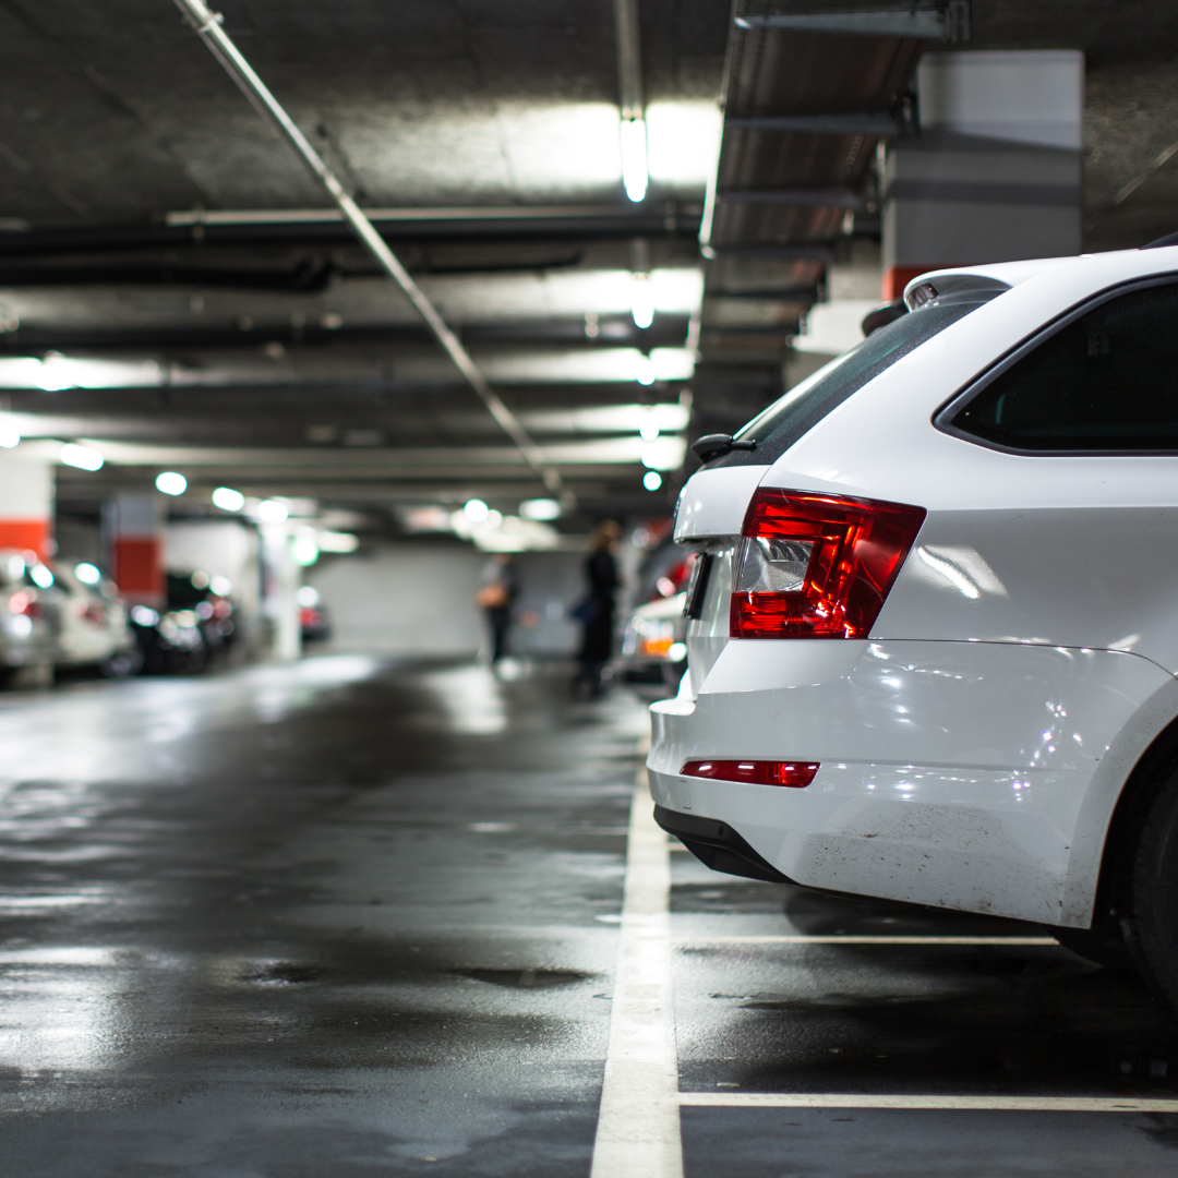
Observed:
[[[1123,931],[1178,1005],[1178,247],[905,298],[696,443],[656,816],[720,871]]]

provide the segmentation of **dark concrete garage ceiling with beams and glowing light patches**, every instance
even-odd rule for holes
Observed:
[[[780,391],[827,265],[879,232],[875,145],[905,133],[915,62],[941,47],[756,20],[882,2],[640,0],[633,201],[624,7],[220,6],[587,512],[666,509],[642,459],[673,492],[688,408],[691,432],[732,428]],[[1178,226],[1170,6],[966,8],[968,47],[1085,51],[1087,246]],[[107,455],[62,474],[64,502],[164,466],[197,496],[232,482],[340,507],[541,492],[172,4],[0,0],[0,389],[27,437]],[[642,405],[670,413],[657,454]]]

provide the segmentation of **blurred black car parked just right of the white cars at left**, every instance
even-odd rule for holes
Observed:
[[[239,636],[232,587],[207,573],[168,573],[163,610],[131,608],[131,624],[154,674],[191,675],[229,655]]]

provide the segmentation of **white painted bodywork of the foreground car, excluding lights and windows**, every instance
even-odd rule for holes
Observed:
[[[770,468],[688,481],[676,536],[717,560],[689,673],[653,708],[651,789],[800,884],[1086,927],[1124,783],[1178,717],[1178,455],[1010,454],[934,418],[1086,300],[1178,280],[1178,247],[969,272],[1011,289]],[[926,509],[867,642],[728,637],[757,485]],[[821,768],[786,789],[683,777],[688,757]]]

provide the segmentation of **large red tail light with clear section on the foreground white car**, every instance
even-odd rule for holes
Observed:
[[[925,509],[762,488],[744,516],[734,638],[866,638]]]

